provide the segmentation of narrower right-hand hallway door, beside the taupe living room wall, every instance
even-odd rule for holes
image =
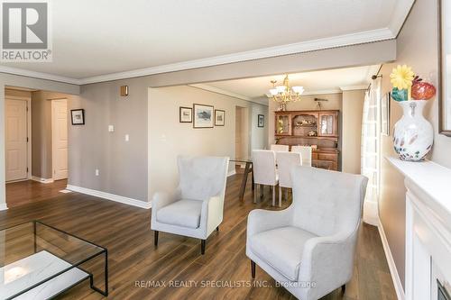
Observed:
[[[68,101],[51,101],[53,180],[68,177]]]

